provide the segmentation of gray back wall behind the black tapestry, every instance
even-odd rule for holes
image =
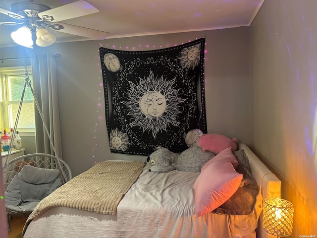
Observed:
[[[74,176],[98,161],[146,157],[110,153],[99,48],[152,50],[206,37],[205,92],[209,133],[249,143],[248,27],[144,37],[55,43],[40,51],[60,54],[57,86],[63,159]],[[121,48],[120,48],[121,47]],[[135,47],[135,49],[133,49]],[[22,47],[0,48],[1,58],[29,56]],[[100,104],[101,106],[98,106]]]

